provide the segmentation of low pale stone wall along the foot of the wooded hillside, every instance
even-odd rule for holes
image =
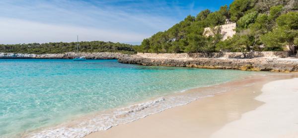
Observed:
[[[244,55],[245,54],[245,55]],[[263,51],[263,52],[212,52],[212,53],[138,53],[137,56],[149,58],[285,58],[289,51]]]

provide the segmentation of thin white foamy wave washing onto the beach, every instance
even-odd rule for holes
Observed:
[[[188,104],[198,98],[213,96],[225,92],[210,90],[206,92],[184,92],[159,97],[147,102],[128,107],[101,112],[92,116],[70,121],[52,128],[45,128],[25,135],[25,138],[82,138],[97,131],[107,130],[113,126],[126,124],[144,118],[150,114]]]

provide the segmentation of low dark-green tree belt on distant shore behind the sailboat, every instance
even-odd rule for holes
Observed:
[[[34,54],[64,53],[75,51],[75,46],[75,42],[0,45],[0,52]],[[132,45],[102,41],[79,42],[78,49],[80,52],[122,52],[128,54],[136,53],[134,46]]]

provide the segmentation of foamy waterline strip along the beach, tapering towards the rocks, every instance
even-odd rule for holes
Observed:
[[[253,75],[258,76],[258,75]],[[245,78],[249,78],[249,76],[246,76]],[[182,92],[176,92],[165,96],[158,96],[158,97],[152,97],[147,100],[143,100],[137,103],[131,103],[128,105],[124,105],[118,108],[114,109],[108,109],[105,111],[98,111],[95,113],[90,113],[83,115],[79,118],[74,118],[70,121],[64,122],[62,124],[49,126],[46,128],[40,128],[37,130],[29,131],[25,133],[22,138],[40,138],[38,136],[44,136],[44,137],[55,137],[55,135],[51,136],[52,134],[58,133],[56,135],[59,136],[67,136],[68,138],[72,136],[72,133],[74,134],[75,138],[81,136],[86,136],[93,132],[98,131],[105,131],[112,127],[121,125],[121,124],[127,124],[134,122],[136,120],[145,118],[149,115],[156,114],[159,112],[162,112],[164,110],[181,106],[188,104],[194,100],[197,100],[199,98],[205,98],[209,96],[214,96],[215,94],[226,92],[226,89],[223,89],[221,91],[217,91],[216,89],[221,86],[226,86],[229,83],[233,83],[238,80],[243,80],[244,78],[238,78],[236,80],[230,81],[230,82],[224,82],[221,84],[211,85],[211,86],[205,86],[205,87],[198,87],[198,88],[187,88],[183,90]],[[202,89],[202,90],[208,90],[206,92],[198,93],[196,90]],[[142,113],[144,112],[144,113]],[[133,116],[130,116],[130,115]],[[106,118],[109,117],[116,117],[116,118],[110,118],[112,120],[120,120],[120,122],[114,122],[115,124],[112,125],[106,125],[105,121]],[[102,120],[102,118],[104,118]],[[128,118],[129,120],[123,120]],[[95,121],[94,121],[95,120]],[[89,125],[91,122],[92,126],[97,125],[96,127],[90,128],[90,130],[85,130],[82,132],[82,125]],[[109,121],[108,121],[109,122]],[[94,124],[95,123],[95,124]],[[62,130],[61,130],[62,129]],[[78,134],[75,134],[73,131],[77,129]],[[82,133],[82,134],[81,134]],[[71,135],[70,135],[71,134]],[[43,138],[43,137],[42,137]]]

